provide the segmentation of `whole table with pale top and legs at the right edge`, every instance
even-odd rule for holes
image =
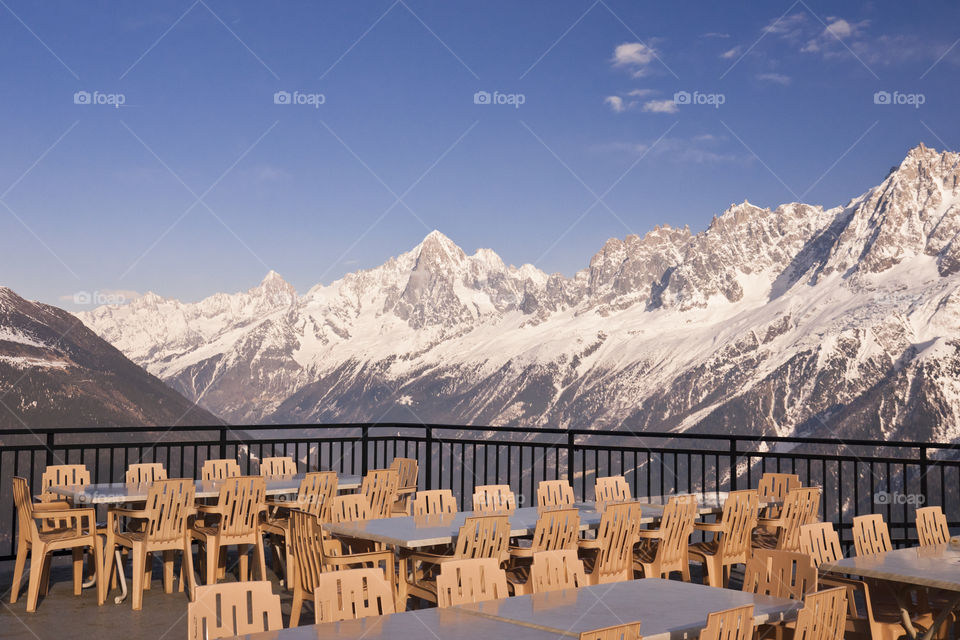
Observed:
[[[885,553],[843,558],[836,562],[824,562],[820,565],[820,571],[875,578],[899,585],[891,591],[897,600],[897,606],[904,614],[901,616],[904,629],[912,639],[932,638],[950,614],[960,606],[960,549],[948,544],[907,547]],[[922,635],[910,623],[907,613],[906,594],[910,586],[950,591],[953,596],[950,606],[940,612],[930,629]]]

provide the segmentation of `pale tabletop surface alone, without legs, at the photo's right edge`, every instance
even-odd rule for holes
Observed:
[[[844,558],[820,570],[960,592],[960,549],[947,544]]]

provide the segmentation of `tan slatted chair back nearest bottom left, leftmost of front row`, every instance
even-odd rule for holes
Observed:
[[[197,587],[187,605],[187,640],[232,638],[283,628],[280,596],[270,582],[229,582]]]

